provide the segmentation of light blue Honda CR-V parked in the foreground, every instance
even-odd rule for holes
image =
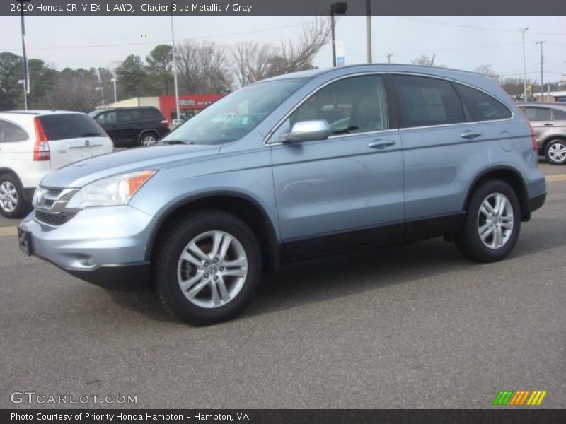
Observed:
[[[263,271],[316,254],[444,236],[498,261],[545,195],[531,126],[490,78],[345,66],[253,83],[156,146],[52,172],[18,237],[86,281],[149,281],[168,311],[210,324]]]

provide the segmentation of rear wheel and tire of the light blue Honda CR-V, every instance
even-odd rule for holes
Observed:
[[[497,202],[501,206],[503,198],[502,213],[496,213],[495,219],[488,218],[490,211],[485,202],[495,209]],[[515,192],[506,182],[489,179],[473,193],[463,226],[456,233],[454,241],[460,252],[469,259],[495,262],[512,251],[520,230],[521,206]],[[480,231],[484,238],[480,236]],[[497,238],[499,234],[500,239]]]

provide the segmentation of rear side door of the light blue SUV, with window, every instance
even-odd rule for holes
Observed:
[[[391,75],[401,115],[406,235],[457,228],[470,175],[489,163],[478,122],[468,122],[451,81]]]

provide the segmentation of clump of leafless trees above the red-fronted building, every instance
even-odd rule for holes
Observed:
[[[186,94],[227,93],[232,77],[226,48],[214,42],[186,40],[177,49],[180,91]]]

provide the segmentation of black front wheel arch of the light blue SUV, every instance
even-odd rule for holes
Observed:
[[[279,267],[279,245],[277,235],[270,217],[258,201],[252,197],[239,192],[208,192],[200,196],[190,196],[169,206],[161,213],[156,225],[149,236],[148,246],[158,242],[159,234],[163,228],[173,222],[179,216],[190,211],[202,208],[214,208],[226,211],[243,220],[258,237],[262,249],[264,269],[276,271]],[[152,259],[154,249],[146,252],[146,260]]]

